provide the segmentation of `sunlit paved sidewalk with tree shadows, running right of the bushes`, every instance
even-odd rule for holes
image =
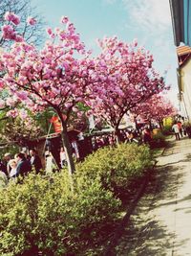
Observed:
[[[117,256],[191,255],[191,139],[173,138],[158,160]]]

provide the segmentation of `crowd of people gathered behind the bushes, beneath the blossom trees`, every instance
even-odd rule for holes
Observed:
[[[124,143],[145,143],[150,144],[152,139],[150,128],[143,127],[139,130],[136,128],[127,128],[124,130],[119,130],[119,140]],[[115,146],[117,144],[117,136],[114,132],[109,134],[103,134],[99,136],[92,137],[93,151],[105,146]],[[80,160],[80,154],[77,147],[77,143],[72,143],[73,157],[76,161]],[[14,156],[11,153],[5,153],[2,160],[0,160],[0,182],[6,183],[9,179],[14,179],[15,177],[21,175],[25,176],[32,170],[35,174],[39,174],[40,170],[45,170],[46,174],[51,174],[54,171],[58,171],[67,166],[67,157],[64,148],[61,147],[59,151],[59,162],[56,162],[52,151],[48,150],[44,153],[45,165],[42,164],[37,151],[34,149],[27,151],[21,151],[16,153]],[[44,162],[43,162],[44,163]]]

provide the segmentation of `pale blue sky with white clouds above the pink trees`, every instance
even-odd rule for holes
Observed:
[[[177,67],[169,0],[32,0],[49,27],[61,16],[74,23],[88,49],[97,51],[96,39],[117,35],[126,42],[138,39],[154,56],[154,67],[171,84],[167,97],[179,107]]]

